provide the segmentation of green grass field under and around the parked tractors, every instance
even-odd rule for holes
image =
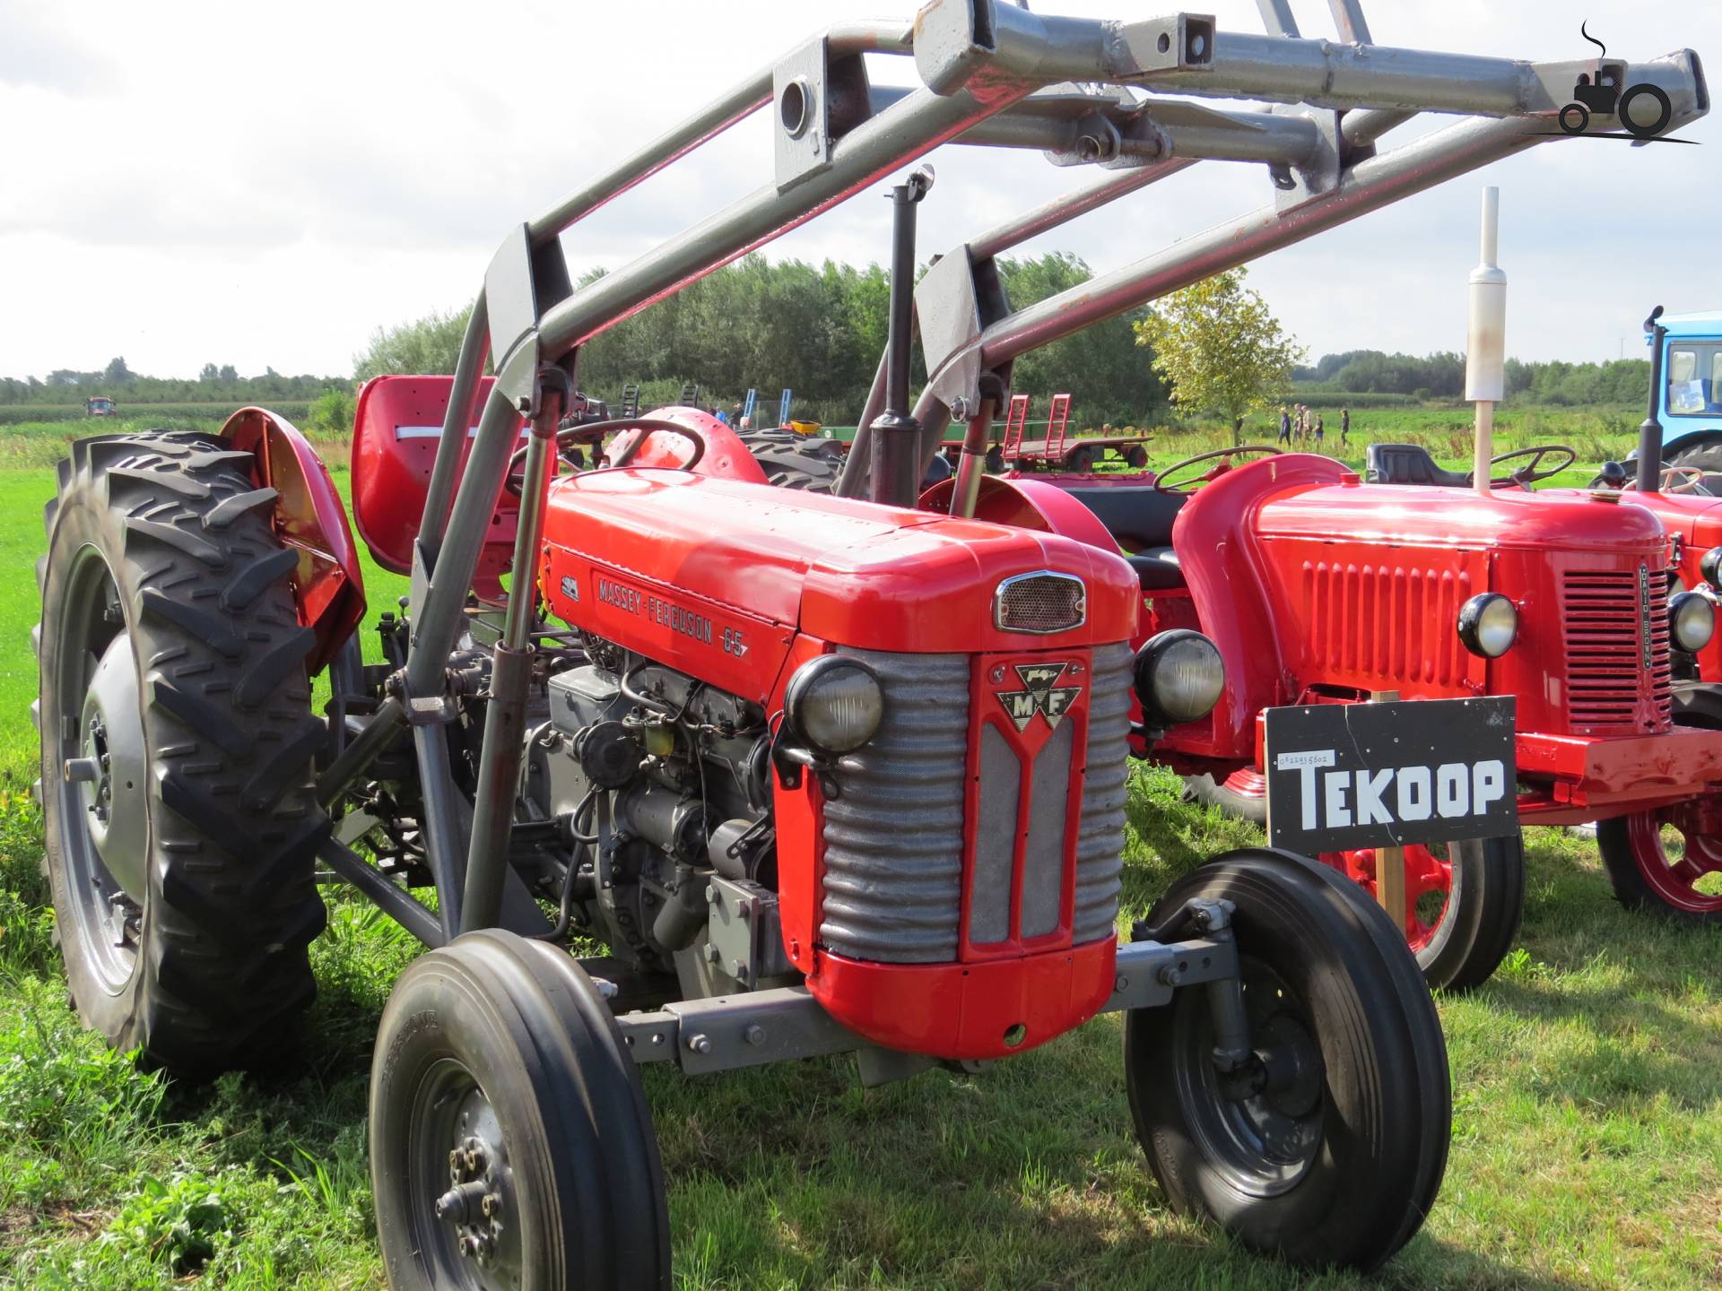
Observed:
[[[381,1288],[365,1081],[405,935],[332,900],[303,1062],[267,1078],[141,1074],[65,1007],[26,795],[53,475],[46,437],[12,434],[29,432],[7,432],[0,460],[31,465],[0,470],[0,1286]],[[394,585],[372,585],[374,604]],[[1126,917],[1259,840],[1176,790],[1161,771],[1133,781]],[[871,1091],[844,1059],[699,1081],[646,1069],[678,1286],[1722,1286],[1722,930],[1624,914],[1595,845],[1564,833],[1533,831],[1529,866],[1517,948],[1476,995],[1440,1002],[1446,1183],[1376,1281],[1300,1277],[1171,1215],[1130,1133],[1119,1024],[1100,1019],[978,1078]]]

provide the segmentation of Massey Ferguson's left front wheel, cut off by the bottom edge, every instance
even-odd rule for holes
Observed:
[[[370,1071],[370,1177],[393,1291],[668,1288],[651,1112],[568,955],[482,931],[417,959]]]

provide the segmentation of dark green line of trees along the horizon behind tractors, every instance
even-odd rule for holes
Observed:
[[[601,277],[592,270],[582,277]],[[1090,277],[1088,265],[1069,253],[999,260],[999,277],[1014,308],[1033,305]],[[749,255],[720,269],[632,318],[594,337],[580,353],[580,386],[615,399],[623,386],[646,387],[646,399],[670,399],[697,384],[701,403],[728,408],[747,389],[761,406],[777,410],[778,391],[794,389],[792,413],[828,425],[849,425],[861,411],[873,368],[885,346],[887,272],[825,262],[771,262]],[[1016,361],[1013,386],[1044,406],[1056,391],[1075,396],[1078,425],[1154,425],[1174,420],[1168,389],[1154,370],[1154,353],[1137,343],[1131,324],[1145,308],[1097,324]],[[60,368],[48,377],[0,379],[0,405],[76,406],[91,394],[114,396],[121,406],[153,403],[312,403],[312,417],[336,420],[351,408],[356,380],[382,372],[449,372],[460,351],[467,312],[432,313],[396,327],[379,327],[353,377],[282,375],[265,370],[241,377],[232,365],[208,363],[198,379],[148,377],[124,358],[105,368]],[[1453,399],[1464,394],[1464,358],[1353,349],[1326,355],[1292,374],[1286,398],[1317,398],[1350,391],[1384,398]],[[916,353],[914,380],[925,380]],[[1610,363],[1524,363],[1508,360],[1507,389],[1515,403],[1631,405],[1648,380],[1645,360]],[[315,403],[313,403],[315,401]]]

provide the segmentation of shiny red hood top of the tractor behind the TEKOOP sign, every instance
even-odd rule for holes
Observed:
[[[1471,491],[1405,484],[1331,484],[1271,497],[1262,537],[1436,546],[1612,549],[1655,546],[1662,523],[1643,506],[1586,492]]]

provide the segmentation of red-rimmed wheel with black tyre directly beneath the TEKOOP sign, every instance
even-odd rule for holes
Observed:
[[[1376,899],[1372,849],[1324,852],[1338,869]],[[1472,840],[1405,849],[1405,943],[1431,986],[1469,990],[1495,973],[1524,916],[1524,843]]]

